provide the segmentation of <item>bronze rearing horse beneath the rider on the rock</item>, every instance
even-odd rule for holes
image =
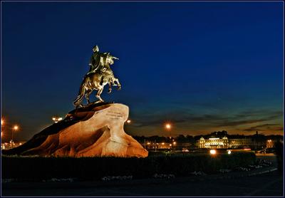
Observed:
[[[95,95],[99,100],[95,103],[104,102],[104,100],[100,97],[103,92],[103,88],[105,85],[109,84],[108,93],[112,91],[112,85],[118,86],[118,90],[120,90],[121,85],[118,78],[115,78],[113,71],[110,68],[110,65],[113,65],[113,56],[107,56],[106,58],[101,58],[100,66],[95,73],[89,73],[83,78],[81,83],[81,88],[79,90],[78,96],[76,100],[74,100],[73,104],[76,106],[82,106],[83,96],[85,95],[88,104],[90,103],[90,94],[93,90],[98,90]]]

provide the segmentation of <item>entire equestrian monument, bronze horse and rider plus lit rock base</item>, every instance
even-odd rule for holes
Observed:
[[[100,53],[95,46],[90,69],[73,102],[76,109],[68,112],[63,120],[38,132],[25,144],[1,152],[4,155],[45,157],[147,157],[147,150],[124,130],[129,116],[128,106],[103,103],[100,97],[107,84],[109,93],[113,85],[120,89],[119,80],[110,68],[114,59],[118,60],[110,53]],[[89,96],[93,90],[97,90],[98,101],[90,103]],[[82,105],[84,96],[88,101],[86,106]]]

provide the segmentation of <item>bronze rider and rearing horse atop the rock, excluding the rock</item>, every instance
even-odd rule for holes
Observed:
[[[85,95],[88,104],[90,103],[90,93],[93,90],[97,90],[96,98],[99,100],[95,103],[104,102],[104,100],[100,97],[103,92],[103,88],[105,85],[109,85],[108,93],[112,91],[112,85],[118,86],[118,90],[120,90],[120,83],[118,78],[115,78],[113,71],[110,68],[110,65],[113,65],[115,60],[119,60],[114,56],[111,56],[110,53],[100,53],[99,47],[93,47],[93,55],[90,58],[90,69],[88,73],[83,78],[81,83],[81,88],[79,90],[78,96],[76,100],[74,100],[73,104],[76,106],[82,106],[83,96]]]

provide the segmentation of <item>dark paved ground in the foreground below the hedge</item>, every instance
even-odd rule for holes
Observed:
[[[266,156],[266,160],[274,160],[274,157]],[[2,184],[2,196],[282,196],[284,194],[283,176],[277,171],[251,177],[197,178],[125,182],[12,182]]]

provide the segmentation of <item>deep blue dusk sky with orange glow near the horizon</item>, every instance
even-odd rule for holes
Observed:
[[[130,135],[283,133],[281,1],[1,4],[3,140],[73,110],[95,44],[120,58],[101,96],[130,107]]]

